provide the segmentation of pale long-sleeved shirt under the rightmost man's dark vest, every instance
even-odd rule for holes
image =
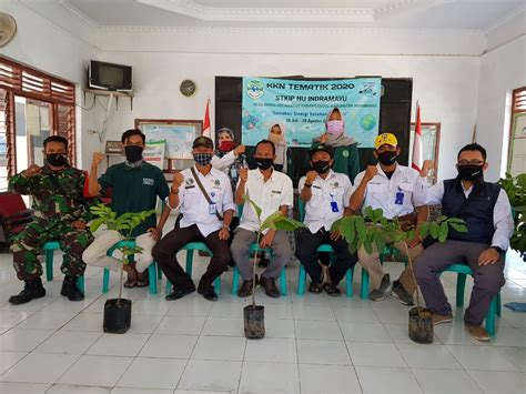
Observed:
[[[473,186],[466,189],[464,183],[462,183],[462,189],[467,199],[473,191]],[[438,182],[427,190],[426,205],[442,204],[443,198],[444,182]],[[493,209],[493,225],[495,226],[495,233],[493,234],[492,246],[498,246],[505,251],[509,246],[509,239],[515,230],[515,223],[512,216],[512,205],[509,204],[508,195],[502,189]]]

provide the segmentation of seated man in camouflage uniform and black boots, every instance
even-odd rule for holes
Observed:
[[[38,260],[45,242],[58,241],[64,252],[61,271],[64,273],[61,294],[70,301],[81,301],[84,294],[77,287],[85,264],[82,252],[93,238],[87,229],[90,220],[84,200],[84,173],[68,164],[68,141],[58,135],[44,140],[47,164],[37,164],[11,178],[9,189],[33,196],[34,219],[17,234],[11,245],[13,265],[26,286],[9,302],[23,304],[45,295],[40,276],[42,265]]]

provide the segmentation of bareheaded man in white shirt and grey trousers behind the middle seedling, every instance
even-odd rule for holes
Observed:
[[[261,222],[272,213],[281,212],[286,216],[289,208],[293,204],[292,180],[279,171],[274,171],[272,163],[275,159],[275,147],[271,141],[260,141],[254,151],[256,170],[240,170],[240,182],[235,190],[235,203],[242,204],[243,194],[246,194],[262,210]],[[244,203],[243,214],[232,242],[232,257],[237,265],[243,284],[237,295],[249,296],[252,294],[254,266],[250,257],[250,245],[257,240],[260,229],[257,216],[250,203]],[[271,261],[266,270],[261,274],[260,285],[265,289],[266,295],[279,297],[280,291],[275,285],[275,279],[289,262],[292,255],[291,244],[286,232],[265,230],[260,240],[261,247],[271,247]],[[257,279],[256,279],[257,280]]]

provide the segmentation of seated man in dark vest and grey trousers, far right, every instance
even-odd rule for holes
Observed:
[[[426,203],[442,204],[442,213],[466,222],[467,232],[449,228],[447,240],[435,243],[415,262],[415,275],[425,303],[434,312],[433,324],[453,320],[439,273],[452,264],[469,265],[474,286],[464,322],[472,336],[488,341],[482,326],[489,304],[506,282],[504,263],[514,220],[506,192],[496,183],[484,181],[486,150],[471,143],[458,152],[458,176],[439,182],[427,191]]]

